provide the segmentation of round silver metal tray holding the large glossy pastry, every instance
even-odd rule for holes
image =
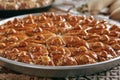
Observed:
[[[38,14],[33,14],[38,15]],[[14,18],[23,18],[26,15],[17,16],[8,18],[0,21],[0,25],[4,24],[9,20]],[[96,16],[97,19],[105,19],[104,17]],[[113,24],[119,24],[119,22],[108,19],[108,22]],[[116,57],[107,61],[85,64],[85,65],[76,65],[76,66],[43,66],[43,65],[33,65],[22,62],[16,62],[9,60],[3,57],[0,57],[0,63],[2,66],[7,67],[16,72],[24,73],[27,75],[34,75],[39,77],[76,77],[76,76],[85,76],[102,71],[109,70],[120,64],[120,57]]]

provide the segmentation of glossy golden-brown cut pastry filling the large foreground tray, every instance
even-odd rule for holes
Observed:
[[[120,27],[92,16],[43,13],[0,26],[0,56],[15,61],[68,66],[119,55]]]

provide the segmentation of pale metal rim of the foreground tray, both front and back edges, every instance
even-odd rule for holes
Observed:
[[[40,15],[41,13],[33,13],[32,15]],[[66,13],[57,13],[57,14],[60,14],[60,15],[64,15]],[[10,20],[13,20],[15,18],[24,18],[25,16],[28,16],[29,14],[25,14],[25,15],[20,15],[20,16],[15,16],[15,17],[11,17],[11,18],[7,18],[7,19],[4,19],[4,20],[1,20],[0,21],[0,25],[6,23],[7,21],[10,21]],[[74,14],[73,14],[74,15]],[[84,14],[80,14],[81,15],[84,15]],[[78,15],[79,16],[79,15]],[[88,15],[89,16],[89,15]],[[95,16],[95,18],[99,16]],[[106,19],[104,17],[101,17],[99,19]],[[117,21],[114,21],[114,20],[111,20],[111,19],[106,19],[108,22],[110,23],[114,23],[114,24],[117,24],[117,25],[120,25],[119,22]],[[0,62],[3,62],[3,63],[8,63],[8,64],[12,64],[12,65],[15,65],[15,66],[19,66],[19,67],[25,67],[25,68],[31,68],[31,69],[43,69],[43,70],[78,70],[78,69],[88,69],[88,68],[91,68],[93,66],[100,66],[100,65],[103,65],[104,64],[109,64],[109,63],[112,63],[114,61],[120,61],[120,56],[117,56],[113,59],[109,59],[109,60],[106,60],[106,61],[102,61],[102,62],[96,62],[96,63],[92,63],[92,64],[83,64],[83,65],[74,65],[74,66],[44,66],[44,65],[35,65],[35,64],[28,64],[28,63],[23,63],[23,62],[18,62],[18,61],[14,61],[14,60],[10,60],[10,59],[7,59],[7,58],[4,58],[4,57],[0,57]],[[5,64],[3,64],[3,66],[5,66]],[[113,66],[113,65],[112,65]],[[54,76],[53,76],[54,77]]]

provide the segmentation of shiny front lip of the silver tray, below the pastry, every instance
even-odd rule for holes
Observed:
[[[36,69],[51,69],[51,70],[79,69],[79,68],[83,68],[83,67],[88,68],[91,66],[102,65],[102,64],[109,63],[109,62],[113,62],[113,61],[116,61],[119,59],[120,59],[120,56],[113,58],[113,59],[110,59],[110,60],[96,62],[96,63],[92,63],[92,64],[74,65],[74,66],[44,66],[44,65],[27,64],[27,63],[18,62],[18,61],[14,61],[14,60],[0,57],[0,61],[3,61],[5,63],[10,63],[10,64],[21,66],[21,67],[36,68]]]

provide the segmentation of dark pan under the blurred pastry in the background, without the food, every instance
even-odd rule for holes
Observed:
[[[54,1],[55,0],[52,0],[50,4],[41,6],[39,8],[21,9],[21,10],[0,10],[0,18],[8,18],[8,17],[23,15],[28,13],[46,12],[51,8]]]

